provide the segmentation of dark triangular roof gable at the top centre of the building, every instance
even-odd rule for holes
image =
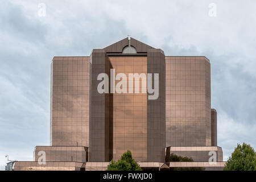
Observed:
[[[110,46],[105,47],[104,49],[106,52],[122,53],[123,48],[126,46],[128,46],[128,38],[111,44]],[[131,38],[131,46],[133,46],[136,49],[137,53],[147,52],[147,49],[154,49],[154,47],[148,46],[147,44],[144,44],[139,40],[133,38]]]

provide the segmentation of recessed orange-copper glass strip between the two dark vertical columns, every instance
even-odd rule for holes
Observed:
[[[135,160],[147,160],[147,93],[142,93],[142,82],[147,80],[147,57],[109,57],[115,76],[124,73],[127,82],[121,88],[127,93],[113,93],[113,159],[118,160],[130,150]],[[129,93],[130,74],[139,78],[139,93]],[[121,78],[122,79],[122,78]],[[118,86],[119,81],[115,81]],[[119,88],[119,87],[118,87]]]

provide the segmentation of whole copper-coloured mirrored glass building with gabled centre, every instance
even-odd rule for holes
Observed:
[[[123,52],[128,44],[135,51]],[[113,93],[113,70],[116,87],[123,78],[115,76],[121,73],[127,78],[120,87],[126,92]],[[108,92],[98,92],[101,73],[108,78],[104,85]],[[130,85],[129,74],[135,73],[142,74],[138,86],[134,78]],[[154,99],[148,99],[154,94],[147,92],[148,74],[152,89],[158,85]],[[165,56],[161,49],[133,38],[93,49],[90,56],[53,57],[50,126],[50,146],[36,146],[34,161],[16,162],[15,170],[106,169],[110,160],[118,160],[127,150],[145,168],[171,167],[166,161],[171,153],[199,162],[189,165],[205,166],[210,151],[217,154],[216,165],[222,165],[217,111],[210,107],[209,60]],[[40,151],[46,154],[46,164],[38,163],[43,157]]]

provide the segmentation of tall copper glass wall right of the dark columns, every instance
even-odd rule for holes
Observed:
[[[166,146],[210,146],[210,64],[166,56]]]

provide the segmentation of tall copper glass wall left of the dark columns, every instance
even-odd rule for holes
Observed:
[[[89,146],[89,57],[54,57],[51,144]]]

